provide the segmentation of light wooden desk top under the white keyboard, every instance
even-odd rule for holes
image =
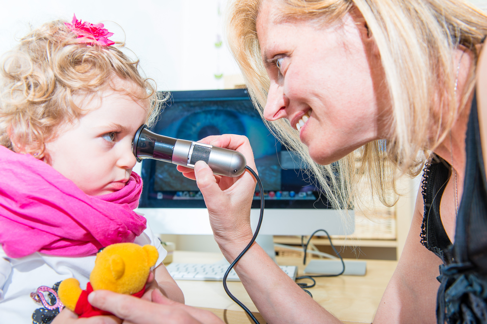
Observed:
[[[220,253],[175,251],[173,262],[213,263],[221,260]],[[280,265],[296,265],[302,275],[302,259],[277,257]],[[365,276],[339,276],[315,278],[316,286],[309,289],[313,298],[345,324],[372,323],[387,283],[391,279],[397,261],[367,260]],[[214,312],[228,324],[253,323],[245,312],[225,293],[221,281],[177,281],[183,290],[186,304]],[[228,289],[252,312],[252,303],[240,282],[227,282]],[[262,316],[257,319],[264,324]]]

